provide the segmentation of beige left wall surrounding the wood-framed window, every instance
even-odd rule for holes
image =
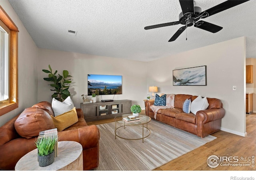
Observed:
[[[19,29],[18,33],[18,98],[19,107],[0,116],[0,126],[37,102],[38,48],[8,1],[0,1]]]

